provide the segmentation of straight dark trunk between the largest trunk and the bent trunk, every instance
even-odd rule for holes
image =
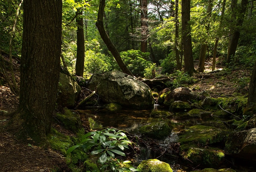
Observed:
[[[83,29],[83,11],[78,9],[76,11],[76,23],[77,23],[77,30],[76,30],[76,76],[83,76],[84,70],[84,29]]]

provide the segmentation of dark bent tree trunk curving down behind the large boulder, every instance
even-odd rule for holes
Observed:
[[[111,42],[108,34],[106,33],[106,30],[103,25],[103,13],[105,8],[105,0],[99,0],[99,11],[98,11],[98,18],[96,22],[96,26],[98,28],[99,34],[101,35],[102,40],[105,42],[106,46],[108,47],[109,51],[114,56],[118,66],[120,69],[131,76],[133,76],[132,72],[127,68],[127,66],[124,64],[119,52],[117,51],[114,44]]]

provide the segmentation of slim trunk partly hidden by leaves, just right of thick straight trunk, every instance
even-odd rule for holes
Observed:
[[[207,11],[206,14],[208,17],[211,16],[211,11],[212,11],[212,0],[208,0],[208,5],[207,5]],[[206,34],[209,35],[209,30],[210,30],[210,23],[207,22],[206,24]],[[207,38],[206,38],[207,39]],[[206,56],[206,39],[204,39],[202,45],[201,45],[201,50],[200,50],[200,55],[199,55],[199,65],[198,65],[198,72],[204,72],[204,62],[205,62],[205,56]]]

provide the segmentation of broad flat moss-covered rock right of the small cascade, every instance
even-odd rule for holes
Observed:
[[[182,132],[178,142],[182,144],[194,143],[206,146],[218,142],[224,142],[229,131],[221,130],[213,126],[194,125]]]

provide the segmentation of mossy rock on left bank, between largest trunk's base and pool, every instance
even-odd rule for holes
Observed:
[[[82,128],[79,114],[68,108],[64,108],[64,113],[57,113],[56,119],[58,120],[57,122],[60,122],[66,129],[73,133],[77,133]]]

